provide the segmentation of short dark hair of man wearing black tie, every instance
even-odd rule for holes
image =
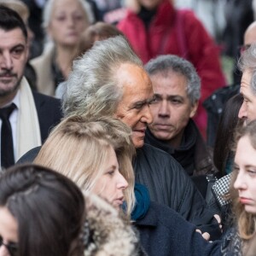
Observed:
[[[9,32],[15,28],[20,28],[24,37],[27,40],[26,24],[21,19],[20,15],[13,9],[3,6],[0,3],[0,28]]]

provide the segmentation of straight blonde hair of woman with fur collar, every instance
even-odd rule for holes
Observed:
[[[95,120],[82,116],[63,119],[50,133],[34,162],[61,172],[84,191],[90,191],[105,171],[111,147],[117,154],[119,172],[128,183],[124,193],[130,216],[135,205],[135,177],[131,166],[135,149],[131,129],[118,119]]]

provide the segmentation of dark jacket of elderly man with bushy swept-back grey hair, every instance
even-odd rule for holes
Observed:
[[[171,207],[211,239],[221,236],[218,223],[195,184],[170,154],[144,144],[133,161],[136,182],[148,188],[151,201]]]

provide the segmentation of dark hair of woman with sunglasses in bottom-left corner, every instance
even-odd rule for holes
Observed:
[[[67,177],[43,166],[13,166],[0,177],[0,206],[17,220],[18,255],[81,255],[84,196]]]

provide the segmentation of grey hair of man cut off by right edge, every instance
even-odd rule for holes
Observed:
[[[250,86],[253,95],[256,95],[256,44],[252,44],[241,54],[237,65],[242,73],[246,70],[252,72]]]

